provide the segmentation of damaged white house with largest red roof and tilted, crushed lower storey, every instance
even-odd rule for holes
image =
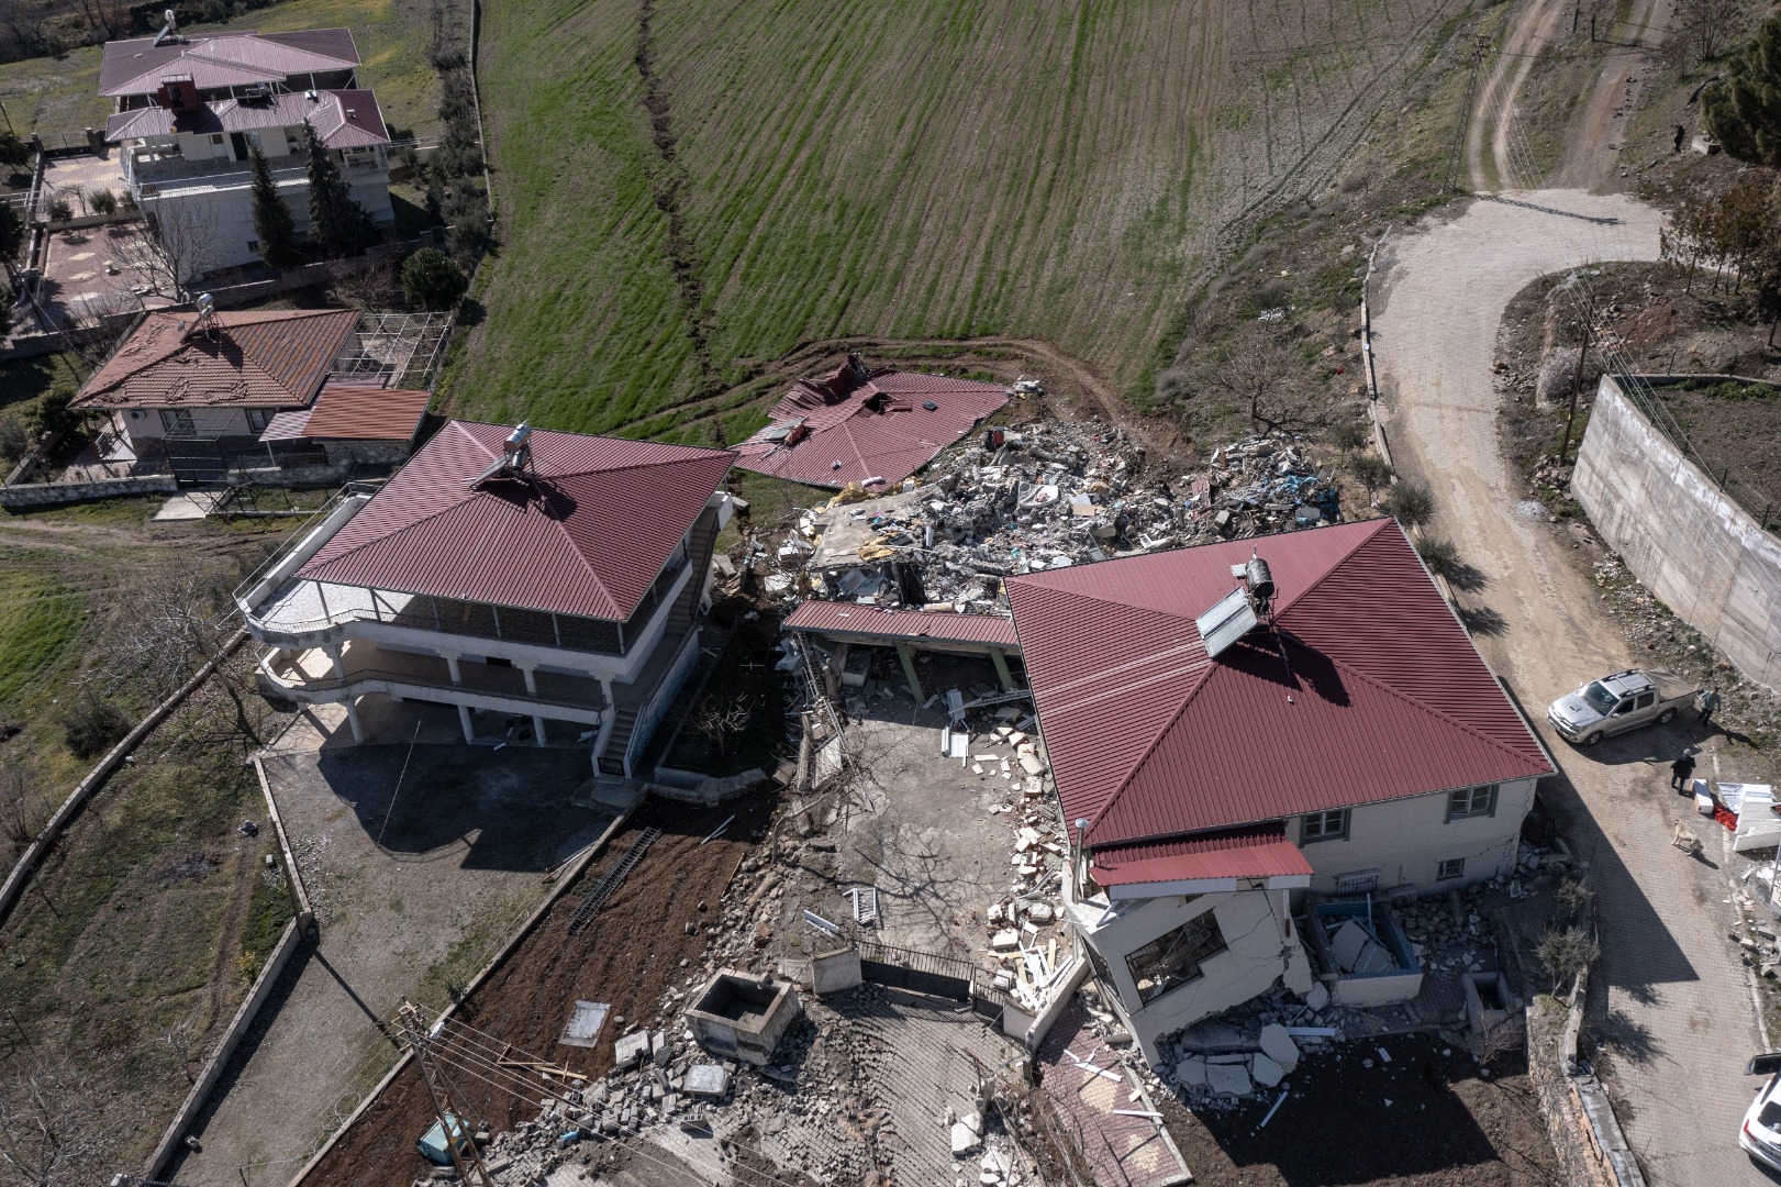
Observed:
[[[1357,971],[1395,973],[1412,961],[1384,900],[1514,870],[1551,761],[1395,520],[1008,597],[1070,836],[1065,918],[1152,1060],[1281,978],[1330,978],[1295,921],[1307,895],[1371,895],[1350,934],[1378,964]]]

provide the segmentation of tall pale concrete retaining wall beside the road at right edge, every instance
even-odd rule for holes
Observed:
[[[1744,675],[1781,692],[1781,538],[1603,376],[1571,494],[1601,538]]]

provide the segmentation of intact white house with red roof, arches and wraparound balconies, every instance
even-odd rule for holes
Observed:
[[[237,604],[260,686],[454,706],[465,741],[643,752],[698,661],[734,454],[451,421],[383,490],[349,494]]]

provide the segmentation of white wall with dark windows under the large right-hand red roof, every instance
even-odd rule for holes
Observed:
[[[1516,864],[1521,820],[1533,807],[1533,779],[1498,784],[1496,813],[1448,820],[1448,793],[1414,795],[1350,809],[1348,836],[1339,841],[1302,845],[1311,863],[1311,889],[1329,895],[1338,877],[1378,870],[1378,888],[1414,886],[1419,893],[1482,882],[1509,873]],[[1288,822],[1288,836],[1300,839],[1304,818]],[[1441,880],[1437,866],[1466,859],[1460,879]]]

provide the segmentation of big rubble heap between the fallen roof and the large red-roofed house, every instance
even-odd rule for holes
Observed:
[[[1339,517],[1332,479],[1284,433],[1222,446],[1197,472],[1163,476],[1115,426],[987,430],[937,458],[924,479],[876,499],[848,488],[807,512],[777,551],[784,572],[768,576],[768,592],[992,610],[1010,576]]]

